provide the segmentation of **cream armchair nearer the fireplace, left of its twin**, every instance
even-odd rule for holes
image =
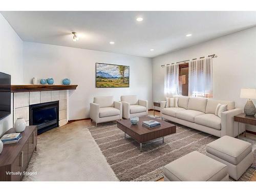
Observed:
[[[122,103],[114,101],[113,96],[94,97],[90,103],[91,121],[97,123],[122,119]]]

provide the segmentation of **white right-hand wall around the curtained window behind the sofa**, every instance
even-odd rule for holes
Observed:
[[[214,53],[214,98],[243,108],[246,99],[240,98],[240,89],[256,88],[256,27],[153,58],[153,101],[164,99],[161,65]]]

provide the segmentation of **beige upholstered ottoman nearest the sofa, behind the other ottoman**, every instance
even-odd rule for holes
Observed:
[[[206,155],[227,165],[228,174],[238,180],[253,163],[250,143],[223,136],[206,145]]]

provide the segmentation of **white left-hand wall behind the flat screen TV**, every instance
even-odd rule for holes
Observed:
[[[12,84],[23,82],[23,41],[0,13],[0,72],[11,75]],[[0,121],[0,136],[12,127],[12,114]]]

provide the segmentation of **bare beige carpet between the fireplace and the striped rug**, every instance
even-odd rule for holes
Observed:
[[[38,136],[23,181],[118,181],[87,127],[77,121]]]

